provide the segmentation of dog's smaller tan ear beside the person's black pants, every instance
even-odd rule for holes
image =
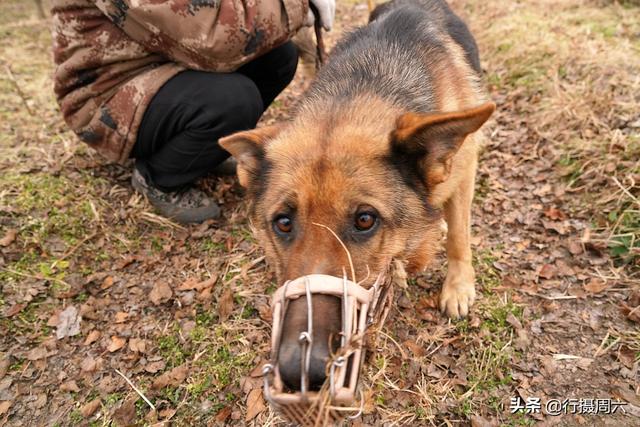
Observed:
[[[247,188],[251,177],[258,176],[262,169],[264,148],[281,130],[280,125],[265,126],[254,130],[237,132],[218,141],[238,162],[238,180]]]

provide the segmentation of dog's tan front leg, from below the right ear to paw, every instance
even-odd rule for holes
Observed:
[[[440,310],[452,318],[466,316],[476,296],[475,273],[471,265],[471,202],[475,167],[467,170],[466,175],[444,204],[448,227],[448,270],[440,293]]]

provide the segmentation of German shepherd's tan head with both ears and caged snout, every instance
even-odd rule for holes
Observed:
[[[289,124],[220,141],[238,161],[251,219],[279,283],[318,273],[370,286],[393,258],[423,268],[439,239],[440,211],[429,205],[451,173],[453,156],[494,110],[388,114],[368,100],[367,123],[349,109],[303,111]],[[353,107],[355,108],[355,107]],[[360,117],[360,118],[358,118]],[[340,300],[314,296],[310,382],[319,387],[341,328]],[[305,298],[291,301],[280,346],[281,375],[297,389],[298,336]]]

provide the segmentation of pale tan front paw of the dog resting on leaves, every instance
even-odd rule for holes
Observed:
[[[465,317],[475,299],[473,268],[450,264],[440,293],[440,311],[452,319]]]

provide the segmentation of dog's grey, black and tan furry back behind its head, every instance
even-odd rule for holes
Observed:
[[[480,73],[475,40],[444,0],[394,0],[336,46],[308,95],[314,105],[375,96],[405,111],[448,111],[483,100]]]

